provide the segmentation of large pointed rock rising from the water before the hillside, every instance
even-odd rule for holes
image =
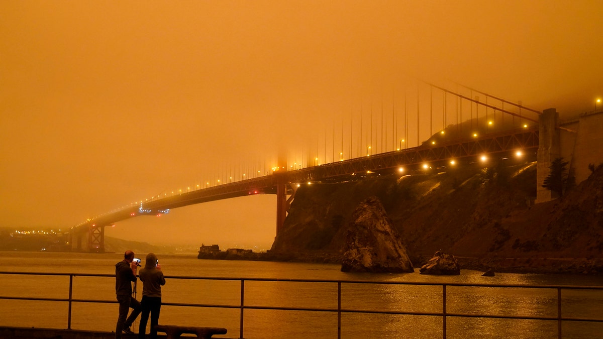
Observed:
[[[406,247],[377,197],[362,201],[352,217],[341,271],[414,272]]]

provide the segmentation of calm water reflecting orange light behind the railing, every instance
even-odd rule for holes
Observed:
[[[144,258],[147,253],[137,256]],[[497,273],[482,277],[479,271],[461,271],[459,276],[425,276],[417,273],[343,273],[339,265],[260,261],[199,260],[191,255],[158,255],[166,285],[164,303],[239,305],[241,282],[229,280],[176,279],[201,277],[265,277],[278,279],[371,280],[377,282],[446,282],[507,285],[601,286],[603,277]],[[43,273],[114,274],[121,254],[0,252],[0,271]],[[143,260],[144,261],[144,260]],[[144,264],[144,262],[143,262]],[[170,278],[172,276],[172,278]],[[245,282],[245,305],[336,308],[337,284],[303,282]],[[139,291],[142,287],[139,287]],[[76,299],[115,300],[115,278],[74,277]],[[0,275],[1,296],[66,298],[69,277]],[[343,309],[374,311],[441,312],[441,286],[342,284]],[[447,287],[449,313],[557,316],[557,290],[528,288]],[[142,295],[137,294],[137,299]],[[74,303],[72,329],[113,331],[117,305]],[[603,293],[562,292],[566,317],[603,318]],[[0,326],[67,328],[68,305],[0,299]],[[166,325],[214,326],[227,328],[238,338],[240,310],[236,308],[162,307],[160,323]],[[442,318],[432,315],[388,315],[344,313],[342,338],[442,338]],[[245,309],[245,338],[337,338],[336,312]],[[603,325],[564,322],[564,338],[603,338]],[[557,338],[557,322],[489,318],[447,318],[447,338]]]

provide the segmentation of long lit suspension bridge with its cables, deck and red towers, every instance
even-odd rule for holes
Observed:
[[[475,89],[468,89],[470,94],[464,95],[445,89],[440,86],[429,85],[429,138],[420,142],[420,133],[416,131],[417,145],[406,147],[409,144],[406,136],[409,136],[407,107],[402,116],[403,132],[402,138],[396,135],[397,128],[391,127],[390,145],[392,150],[385,146],[387,129],[385,135],[379,136],[375,129],[373,138],[373,127],[370,134],[365,131],[367,138],[362,140],[362,127],[358,130],[356,141],[356,156],[351,159],[343,157],[343,131],[341,134],[341,151],[336,152],[335,131],[333,127],[333,156],[328,163],[318,163],[318,150],[314,157],[306,156],[299,165],[297,162],[290,163],[286,157],[279,157],[277,165],[272,166],[270,172],[260,176],[261,170],[257,171],[255,177],[242,174],[241,180],[233,180],[229,176],[227,180],[215,180],[214,185],[196,185],[194,189],[186,191],[163,193],[144,201],[125,206],[117,211],[109,212],[95,218],[90,218],[71,228],[72,250],[87,252],[104,252],[104,227],[113,226],[118,221],[144,215],[162,215],[169,213],[171,209],[189,206],[192,204],[205,203],[208,201],[223,200],[235,197],[243,197],[255,194],[276,194],[276,234],[278,235],[288,213],[291,201],[295,197],[295,191],[300,185],[311,185],[318,182],[343,182],[349,180],[361,180],[367,176],[393,175],[412,173],[413,171],[425,171],[429,168],[446,168],[455,166],[459,162],[484,161],[485,157],[512,157],[522,156],[535,160],[538,148],[538,115],[540,111],[524,107],[521,103],[494,97]],[[439,109],[442,110],[442,127],[434,132],[434,90],[438,91],[443,98]],[[480,100],[475,94],[481,95]],[[455,109],[448,109],[449,97],[454,100]],[[419,94],[417,90],[416,109],[417,128],[421,119],[426,120],[425,114],[421,117],[419,107]],[[439,101],[439,99],[438,99]],[[470,110],[463,112],[463,107],[470,105]],[[475,105],[475,109],[474,109]],[[406,106],[406,101],[405,101]],[[480,107],[482,116],[479,115]],[[437,109],[438,110],[438,109]],[[469,116],[467,116],[469,113]],[[382,113],[383,114],[383,113]],[[447,115],[454,114],[452,118],[455,123],[446,126],[450,120]],[[475,115],[475,116],[474,116]],[[505,120],[506,117],[506,120]],[[372,124],[371,113],[371,124]],[[393,115],[394,125],[397,125],[396,116]],[[383,122],[383,118],[381,119]],[[362,126],[362,124],[361,124]],[[343,129],[343,125],[342,125]],[[384,131],[384,127],[381,128]],[[350,128],[350,155],[352,154],[353,130]],[[369,136],[370,135],[370,136]],[[379,145],[381,141],[381,152],[376,152],[371,144]],[[326,144],[326,138],[325,138]],[[364,148],[364,144],[366,147]],[[362,145],[362,146],[361,146]],[[323,159],[327,158],[327,150]],[[303,166],[303,163],[306,166]],[[253,173],[251,171],[250,173]]]

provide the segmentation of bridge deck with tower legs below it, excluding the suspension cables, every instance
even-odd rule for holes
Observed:
[[[435,141],[435,144],[431,144],[432,141]],[[483,135],[470,140],[438,140],[437,135],[435,135],[418,147],[326,163],[299,170],[274,172],[264,177],[225,183],[146,201],[140,206],[121,209],[72,227],[72,250],[103,252],[104,227],[111,226],[118,221],[142,215],[163,214],[170,209],[192,204],[254,194],[277,195],[276,234],[278,235],[285,221],[289,204],[294,198],[295,189],[300,183],[344,182],[355,178],[357,180],[359,176],[364,176],[367,173],[392,173],[393,170],[397,171],[400,166],[409,171],[418,169],[423,163],[429,163],[431,166],[443,166],[451,159],[462,161],[482,154],[505,154],[516,150],[523,150],[526,153],[529,151],[535,152],[537,148],[538,125]],[[86,244],[83,241],[86,241]]]

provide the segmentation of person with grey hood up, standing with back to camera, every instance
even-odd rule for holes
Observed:
[[[145,267],[140,270],[142,281],[142,315],[138,329],[138,338],[144,339],[147,330],[149,313],[151,313],[151,338],[157,338],[157,324],[161,311],[161,287],[165,285],[165,277],[155,253],[149,253],[145,259]]]

